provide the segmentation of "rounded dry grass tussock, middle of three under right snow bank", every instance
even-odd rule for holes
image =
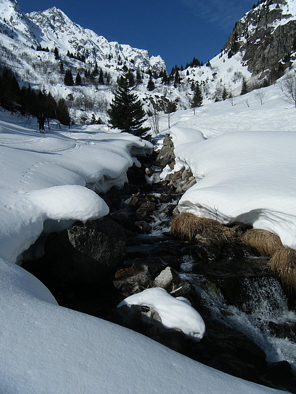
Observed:
[[[256,248],[261,256],[270,257],[277,249],[283,248],[281,238],[267,230],[247,230],[241,239],[246,245]]]

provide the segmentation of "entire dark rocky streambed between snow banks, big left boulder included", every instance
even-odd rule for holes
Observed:
[[[129,183],[101,196],[107,217],[50,234],[44,256],[23,267],[62,306],[137,330],[228,374],[296,393],[296,316],[266,259],[238,240],[173,236],[173,211],[195,179],[182,169],[159,181],[160,171],[174,164],[169,138],[158,155],[138,159],[142,167],[129,169]],[[149,287],[191,302],[206,324],[200,342],[165,329],[151,308],[116,308]]]

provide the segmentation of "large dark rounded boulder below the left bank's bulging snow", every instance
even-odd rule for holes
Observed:
[[[105,287],[123,262],[125,251],[123,227],[104,217],[76,222],[69,230],[50,234],[44,256],[32,264],[49,287]]]

